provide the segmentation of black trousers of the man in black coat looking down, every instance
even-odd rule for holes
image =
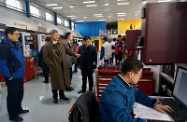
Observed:
[[[87,78],[89,82],[89,90],[93,90],[93,70],[88,68],[81,69],[82,74],[82,90],[86,91]]]

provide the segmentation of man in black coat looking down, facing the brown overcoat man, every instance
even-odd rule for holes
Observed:
[[[97,66],[97,51],[96,48],[90,45],[91,38],[85,36],[83,38],[83,46],[79,48],[78,54],[81,57],[78,59],[82,74],[82,89],[78,93],[86,91],[87,77],[89,81],[89,90],[93,90],[93,69]]]

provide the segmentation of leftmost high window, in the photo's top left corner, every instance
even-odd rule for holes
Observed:
[[[23,6],[21,5],[20,1],[17,0],[6,0],[6,6],[11,9],[15,10],[23,10]]]

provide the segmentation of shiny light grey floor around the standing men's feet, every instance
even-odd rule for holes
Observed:
[[[95,79],[95,74],[93,75]],[[43,77],[37,77],[25,83],[25,94],[23,107],[28,108],[30,112],[22,115],[23,122],[68,122],[68,110],[76,101],[81,88],[80,70],[73,75],[72,87],[74,91],[66,92],[69,101],[59,100],[58,104],[53,104],[50,84],[43,83]],[[9,122],[6,109],[7,91],[2,92],[2,111],[0,112],[0,122]]]

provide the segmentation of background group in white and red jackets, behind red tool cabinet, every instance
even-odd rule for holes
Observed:
[[[118,35],[118,38],[114,38],[113,41],[109,41],[107,37],[103,37],[104,44],[101,47],[100,61],[104,59],[105,64],[122,63],[126,59],[126,39],[122,35]]]

